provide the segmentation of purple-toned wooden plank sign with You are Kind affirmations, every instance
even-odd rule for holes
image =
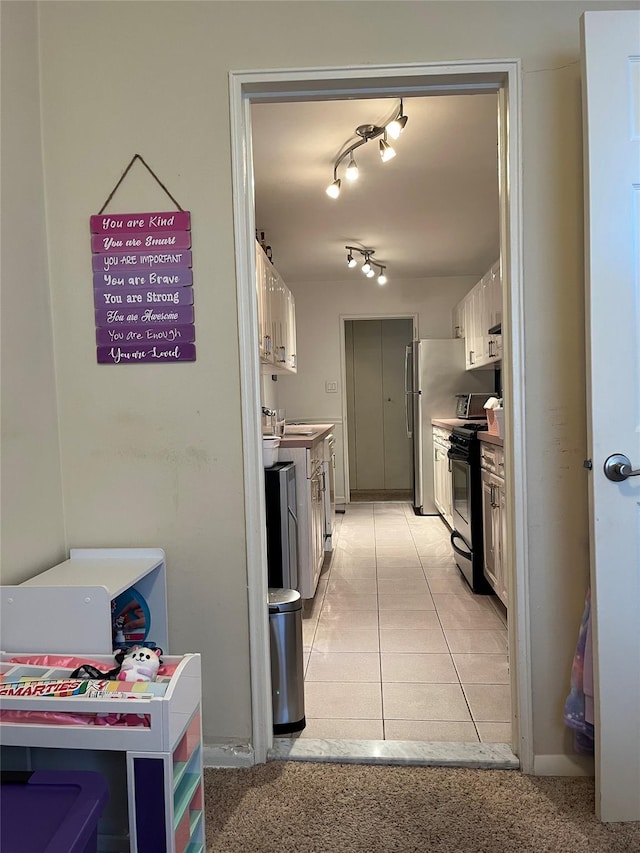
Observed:
[[[188,210],[91,217],[98,364],[195,361]]]

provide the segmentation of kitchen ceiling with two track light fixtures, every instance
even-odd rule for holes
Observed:
[[[394,280],[480,277],[498,256],[497,96],[405,97],[408,122],[382,163],[378,139],[354,153],[359,178],[326,195],[337,156],[361,124],[383,125],[399,99],[252,105],[256,227],[288,282],[344,281],[347,244],[374,249]],[[375,279],[373,279],[375,281]]]

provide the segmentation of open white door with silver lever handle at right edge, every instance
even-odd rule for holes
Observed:
[[[596,810],[639,820],[640,12],[582,24]]]

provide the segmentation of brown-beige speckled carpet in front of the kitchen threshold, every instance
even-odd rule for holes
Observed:
[[[205,770],[208,853],[638,853],[593,780],[272,761]]]

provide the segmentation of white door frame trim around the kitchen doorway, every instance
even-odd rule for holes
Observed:
[[[525,342],[522,206],[522,68],[518,59],[454,61],[406,65],[263,69],[229,72],[231,162],[238,305],[238,340],[246,513],[247,590],[254,758],[267,760],[273,746],[269,626],[264,533],[264,473],[260,442],[260,372],[257,300],[251,103],[331,100],[393,94],[472,94],[496,92],[501,121],[500,242],[503,255],[505,396],[507,416],[507,505],[514,584],[510,590],[509,643],[512,656],[513,749],[523,772],[534,771],[527,465],[524,398]],[[513,666],[515,664],[515,666]]]

